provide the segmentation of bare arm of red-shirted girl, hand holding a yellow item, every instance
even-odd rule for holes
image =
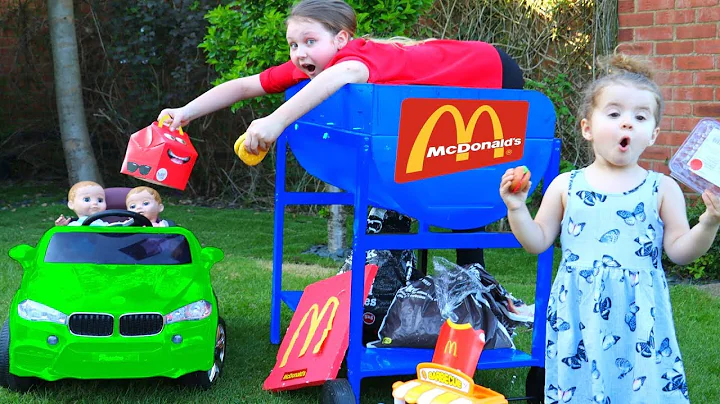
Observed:
[[[370,71],[365,64],[349,60],[323,70],[302,90],[265,118],[254,120],[247,129],[245,148],[257,154],[267,150],[283,130],[348,83],[367,83]]]

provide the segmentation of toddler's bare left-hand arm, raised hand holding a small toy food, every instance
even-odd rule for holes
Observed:
[[[527,193],[522,195],[511,193],[512,171],[508,170],[503,175],[500,195],[508,207],[510,228],[525,251],[540,254],[557,238],[565,211],[563,195],[567,193],[569,178],[569,173],[561,174],[550,183],[533,220],[525,205]]]

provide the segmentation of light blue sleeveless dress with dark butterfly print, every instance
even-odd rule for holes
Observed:
[[[550,292],[546,404],[687,403],[662,269],[661,175],[621,194],[570,174]]]

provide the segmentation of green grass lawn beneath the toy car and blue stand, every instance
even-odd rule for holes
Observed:
[[[60,214],[71,213],[60,202],[65,189],[0,184],[0,322],[22,276],[8,250],[21,243],[35,245]],[[161,190],[162,192],[162,190]],[[204,245],[221,248],[225,259],[212,269],[221,314],[228,326],[224,374],[210,391],[188,390],[171,380],[64,380],[18,395],[0,389],[0,402],[13,403],[310,403],[320,388],[271,394],[262,383],[275,363],[277,346],[269,342],[272,212],[167,206],[164,217],[192,230]],[[284,256],[285,288],[302,289],[333,275],[338,264],[302,251],[326,241],[327,222],[316,217],[287,215]],[[454,259],[453,251],[433,251]],[[534,300],[535,259],[520,250],[487,251],[487,265],[516,297]],[[671,288],[674,316],[684,355],[692,402],[720,402],[720,299],[694,286]],[[284,310],[282,328],[292,313]],[[516,344],[529,350],[530,331],[518,329]],[[506,396],[524,394],[527,369],[484,371],[479,384]],[[391,403],[391,385],[407,377],[366,379],[363,403]]]

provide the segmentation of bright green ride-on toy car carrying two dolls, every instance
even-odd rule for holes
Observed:
[[[133,220],[89,226],[113,215]],[[9,255],[24,273],[0,331],[0,385],[163,376],[207,389],[218,379],[226,330],[210,268],[223,253],[189,230],[108,210]]]

